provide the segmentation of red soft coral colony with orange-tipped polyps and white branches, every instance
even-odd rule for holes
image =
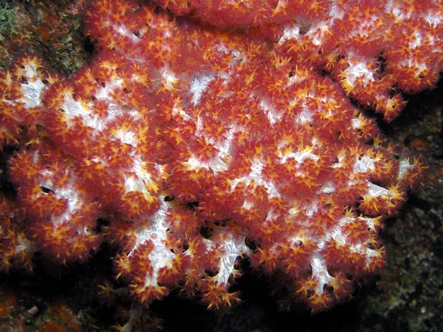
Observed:
[[[390,121],[437,82],[442,19],[440,1],[93,1],[91,64],[1,74],[0,268],[109,241],[146,305],[237,302],[239,257],[313,311],[346,299],[423,168],[361,108]]]

